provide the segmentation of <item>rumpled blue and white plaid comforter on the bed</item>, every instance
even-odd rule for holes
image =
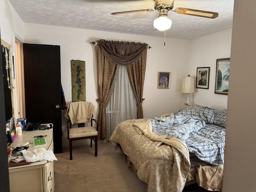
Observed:
[[[152,131],[158,135],[179,138],[186,143],[189,152],[200,160],[223,166],[226,129],[213,124],[214,113],[216,111],[213,111],[212,124],[209,118],[203,120],[180,114],[171,114],[166,118],[154,117],[151,120]]]

